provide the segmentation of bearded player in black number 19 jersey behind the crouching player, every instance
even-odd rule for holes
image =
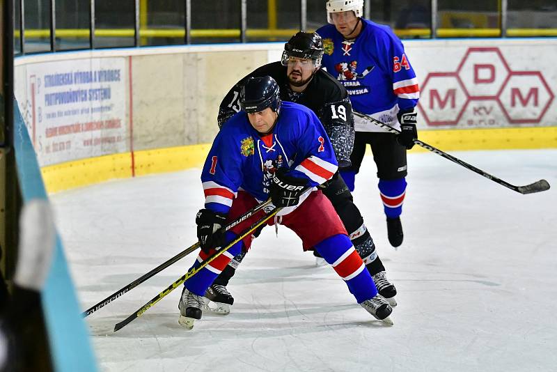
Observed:
[[[331,139],[339,169],[350,166],[350,154],[354,146],[352,105],[345,87],[320,69],[323,50],[322,39],[317,33],[296,33],[285,44],[280,62],[263,65],[230,89],[219,107],[219,127],[225,125],[228,118],[240,111],[239,98],[244,82],[249,77],[269,75],[281,88],[281,100],[303,104],[317,114]],[[391,306],[395,306],[395,286],[386,279],[384,265],[377,256],[371,235],[363,224],[363,217],[354,205],[352,194],[343,178],[337,172],[320,187],[342,219],[350,240],[366,264],[379,294],[385,297]],[[205,302],[208,310],[223,314],[230,311],[234,299],[226,286],[245,254],[246,251],[243,251],[235,256],[207,289],[205,297],[210,301]]]

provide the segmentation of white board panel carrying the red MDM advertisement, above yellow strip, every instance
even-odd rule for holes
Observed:
[[[550,47],[553,43],[553,47]],[[557,42],[406,42],[421,129],[557,125]]]

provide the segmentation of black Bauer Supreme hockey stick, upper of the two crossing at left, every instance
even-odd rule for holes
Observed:
[[[269,204],[271,204],[271,199],[268,199],[267,201],[264,201],[263,203],[258,204],[258,206],[256,206],[255,208],[252,208],[251,210],[248,210],[243,215],[241,215],[240,217],[235,219],[233,222],[230,222],[230,224],[224,226],[223,230],[224,231],[230,230],[230,228],[233,228],[237,224],[240,224],[240,222],[242,222],[242,221],[248,219],[249,217],[255,215],[257,212],[259,212],[263,208],[269,206]],[[97,304],[94,304],[92,307],[90,307],[89,309],[87,309],[86,311],[81,313],[81,316],[83,316],[85,318],[86,316],[91,315],[91,313],[94,313],[95,311],[97,311],[101,307],[104,307],[105,305],[109,304],[109,302],[112,302],[113,300],[116,300],[116,298],[120,297],[121,295],[123,295],[127,291],[132,290],[136,286],[139,286],[139,284],[143,283],[143,281],[146,281],[147,279],[154,276],[155,274],[157,274],[159,272],[162,272],[162,270],[168,268],[168,266],[170,266],[170,265],[173,265],[174,263],[176,263],[177,261],[184,258],[185,256],[187,256],[188,254],[190,254],[191,252],[195,251],[198,248],[199,248],[199,242],[196,242],[194,245],[191,245],[191,247],[185,249],[185,251],[181,251],[179,254],[177,254],[173,258],[170,258],[168,261],[158,265],[156,268],[152,269],[147,274],[144,274],[142,277],[139,277],[139,278],[135,279],[134,281],[132,281],[132,283],[127,284],[127,286],[124,286],[120,290],[117,290],[115,293],[112,293],[111,295],[109,295],[104,300],[102,300],[100,302],[97,302]]]

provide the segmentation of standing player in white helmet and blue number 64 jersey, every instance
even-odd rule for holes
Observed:
[[[364,20],[363,0],[327,1],[329,24],[317,30],[323,38],[323,66],[347,89],[354,111],[372,116],[402,131],[386,132],[363,118],[355,118],[352,166],[340,174],[354,190],[366,144],[370,144],[379,178],[379,192],[387,217],[389,242],[402,244],[400,222],[406,194],[406,150],[414,146],[419,88],[402,42],[388,26]]]

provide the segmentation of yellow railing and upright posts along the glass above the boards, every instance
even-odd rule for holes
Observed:
[[[24,54],[26,51],[26,40],[38,40],[50,43],[49,50],[56,52],[57,42],[62,38],[72,38],[75,40],[87,40],[88,48],[97,47],[97,38],[133,38],[133,46],[139,47],[146,44],[146,38],[176,38],[182,40],[184,44],[191,44],[192,38],[214,38],[231,39],[246,42],[250,40],[285,40],[292,34],[304,29],[308,29],[307,0],[299,0],[300,17],[299,29],[276,27],[276,1],[267,0],[268,3],[268,28],[248,29],[247,20],[249,15],[246,10],[246,1],[240,0],[240,28],[238,29],[192,29],[191,27],[191,0],[185,0],[183,27],[157,28],[147,26],[146,5],[134,0],[134,26],[133,28],[98,28],[95,24],[95,0],[89,0],[89,28],[88,29],[57,29],[56,28],[56,0],[49,0],[49,29],[25,29],[24,28],[24,0],[20,0],[19,8],[19,30],[15,30],[15,38],[19,39],[19,52]],[[141,6],[140,6],[141,5]],[[275,7],[275,8],[273,8]],[[274,9],[274,11],[273,11]],[[364,16],[370,16],[370,0],[365,1]],[[395,33],[400,38],[501,38],[501,37],[534,37],[534,36],[557,36],[557,29],[508,29],[507,27],[507,0],[500,0],[499,3],[499,27],[498,28],[439,28],[437,17],[437,0],[431,0],[431,19],[430,28],[414,29],[395,29]],[[130,43],[131,44],[131,43]],[[132,45],[130,45],[132,46]]]

